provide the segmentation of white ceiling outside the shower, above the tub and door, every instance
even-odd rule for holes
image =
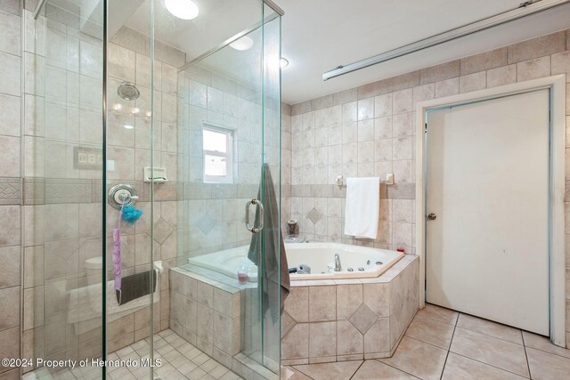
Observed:
[[[522,0],[277,0],[283,101],[314,99],[416,69],[570,28],[570,6],[322,81],[322,73],[516,8]]]

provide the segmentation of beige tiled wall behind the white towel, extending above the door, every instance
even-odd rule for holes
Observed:
[[[415,250],[415,105],[456,93],[566,74],[570,30],[293,105],[291,217],[307,239]],[[570,84],[566,85],[566,345],[570,345]],[[285,139],[284,139],[285,140]],[[343,234],[344,177],[394,173],[381,186],[375,240]]]

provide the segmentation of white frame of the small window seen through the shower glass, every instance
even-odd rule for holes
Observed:
[[[204,131],[223,133],[225,134],[226,141],[226,152],[220,152],[217,150],[206,150],[204,148]],[[224,126],[216,125],[213,123],[208,123],[204,121],[202,123],[202,179],[204,183],[233,183],[233,163],[234,163],[234,143],[235,129]],[[206,173],[206,156],[215,156],[220,158],[225,158],[226,162],[226,175],[208,175]]]

